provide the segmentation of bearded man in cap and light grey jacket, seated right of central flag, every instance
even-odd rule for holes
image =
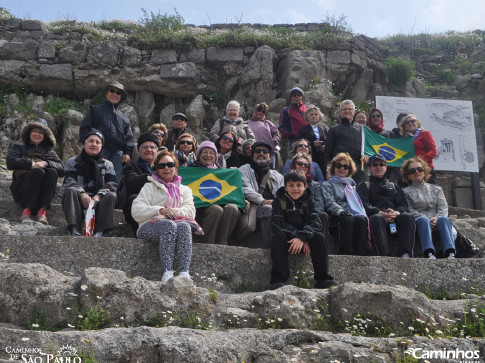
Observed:
[[[263,232],[263,247],[269,248],[271,237],[271,212],[276,191],[283,186],[283,175],[272,170],[269,165],[271,146],[257,141],[251,147],[251,162],[239,168],[243,182],[244,197],[251,203],[251,209],[256,213],[256,219],[261,224]],[[241,221],[244,221],[241,218]],[[240,240],[254,232],[256,225],[249,223],[237,227]]]

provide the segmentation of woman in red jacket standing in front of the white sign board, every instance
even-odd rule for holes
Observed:
[[[428,183],[436,184],[436,174],[434,173],[433,159],[436,157],[437,149],[436,142],[434,141],[431,132],[423,130],[421,121],[418,120],[416,115],[407,115],[399,124],[401,129],[401,135],[414,137],[414,152],[416,155],[421,156],[428,164],[430,169],[430,177],[427,180]],[[403,178],[405,176],[403,175]]]

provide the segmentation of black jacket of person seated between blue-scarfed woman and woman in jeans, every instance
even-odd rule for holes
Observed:
[[[399,213],[408,212],[408,203],[401,187],[386,178],[370,176],[369,188],[365,182],[361,182],[357,186],[357,193],[368,217],[388,208]]]

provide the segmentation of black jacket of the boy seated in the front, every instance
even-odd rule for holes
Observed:
[[[273,231],[284,231],[303,242],[308,242],[315,232],[322,230],[318,208],[308,188],[295,201],[286,195],[285,187],[278,189],[273,202],[271,222]]]

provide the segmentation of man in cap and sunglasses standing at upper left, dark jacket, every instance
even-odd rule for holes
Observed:
[[[113,163],[116,171],[116,182],[119,182],[123,174],[123,164],[130,162],[133,152],[133,132],[130,120],[118,106],[126,100],[127,93],[119,82],[111,82],[104,88],[106,101],[101,105],[91,106],[84,117],[79,138],[86,139],[87,133],[95,128],[99,130],[105,140],[103,144],[103,158]]]

